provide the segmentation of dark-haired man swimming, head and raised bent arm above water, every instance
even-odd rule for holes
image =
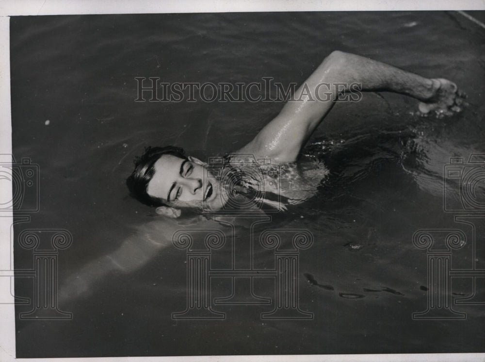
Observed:
[[[355,54],[333,51],[288,101],[247,145],[226,157],[227,164],[238,164],[240,156],[254,155],[254,160],[269,159],[273,165],[288,165],[298,155],[313,131],[346,92],[390,91],[420,100],[421,113],[451,114],[460,110],[460,95],[453,82],[427,79],[387,64]],[[158,214],[178,217],[184,208],[218,210],[230,195],[221,187],[220,178],[204,177],[207,164],[186,156],[182,148],[173,146],[147,148],[135,160],[135,169],[127,179],[131,195],[154,206]],[[269,181],[269,182],[266,182]],[[243,180],[243,189],[251,189],[252,181]],[[271,185],[271,180],[265,178]],[[256,186],[257,187],[257,186]],[[296,200],[281,188],[266,187]],[[262,199],[263,203],[274,201]],[[285,208],[284,205],[275,207]]]

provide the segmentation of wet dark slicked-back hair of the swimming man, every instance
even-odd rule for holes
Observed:
[[[185,151],[180,147],[146,147],[143,155],[136,157],[133,161],[135,169],[129,178],[126,179],[130,195],[148,206],[158,207],[165,205],[162,198],[152,197],[146,193],[148,182],[150,182],[155,173],[154,164],[163,155],[177,156],[187,160]]]

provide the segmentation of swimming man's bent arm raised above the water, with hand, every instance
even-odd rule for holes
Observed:
[[[426,109],[420,105],[422,111],[453,105],[456,92],[456,85],[447,80],[423,78],[369,58],[333,51],[297,89],[294,100],[240,152],[271,157],[275,162],[295,161],[339,94],[349,91],[352,84],[362,91],[386,90],[414,97],[429,105]]]

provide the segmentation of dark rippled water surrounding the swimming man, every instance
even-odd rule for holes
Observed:
[[[13,151],[39,165],[41,183],[40,212],[15,230],[73,235],[58,259],[59,307],[74,319],[17,319],[17,357],[483,352],[483,306],[459,306],[466,321],[411,315],[426,308],[427,285],[426,252],[412,235],[459,227],[443,212],[443,167],[485,152],[484,45],[483,29],[453,12],[12,17]],[[134,78],[302,82],[334,49],[449,78],[469,105],[437,119],[416,115],[414,99],[365,94],[337,104],[315,132],[304,153],[330,170],[317,194],[254,230],[313,234],[298,279],[313,320],[261,320],[268,305],[217,306],[224,321],[172,320],[187,293],[186,255],[172,234],[231,229],[197,215],[164,219],[137,203],[125,186],[132,159],[148,145],[200,159],[240,148],[282,103],[135,102]],[[234,221],[240,267],[249,267],[253,221]],[[255,266],[272,268],[274,258],[255,247]],[[214,253],[217,267],[230,260],[229,248]],[[17,247],[15,262],[32,267],[32,253]],[[212,296],[227,296],[228,283],[215,279]],[[255,278],[254,292],[274,297],[274,283]],[[455,283],[453,293],[471,289]],[[17,279],[16,295],[31,296],[32,280]]]

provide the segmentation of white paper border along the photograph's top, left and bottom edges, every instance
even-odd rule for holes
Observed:
[[[61,4],[62,3],[62,4]],[[12,154],[12,120],[10,106],[10,16],[73,15],[73,14],[148,14],[148,13],[219,13],[219,12],[303,12],[303,11],[417,11],[417,10],[485,10],[481,0],[447,0],[436,7],[418,0],[371,0],[365,5],[353,0],[340,1],[284,1],[247,0],[219,1],[95,1],[95,0],[0,0],[0,154]],[[18,161],[18,160],[17,160]],[[12,186],[3,182],[0,198],[10,199]],[[10,198],[9,198],[10,196]],[[0,215],[0,276],[9,275],[13,268],[13,240],[11,237],[12,213]],[[2,278],[12,280],[13,278]],[[5,290],[5,286],[8,287]],[[9,296],[11,304],[0,304],[0,361],[15,359],[15,305],[10,281],[0,280],[0,293]],[[12,285],[13,288],[13,285]],[[228,356],[104,358],[105,361],[227,361]],[[231,361],[483,361],[485,353],[467,354],[385,354],[385,355],[292,355],[290,356],[230,356]],[[20,361],[24,359],[19,359]],[[26,359],[27,360],[27,359]],[[28,359],[34,361],[37,359]],[[39,359],[47,360],[47,359]],[[57,359],[56,359],[57,360]],[[60,361],[91,360],[66,358]],[[97,359],[98,360],[98,359]],[[16,360],[18,361],[18,360]]]

